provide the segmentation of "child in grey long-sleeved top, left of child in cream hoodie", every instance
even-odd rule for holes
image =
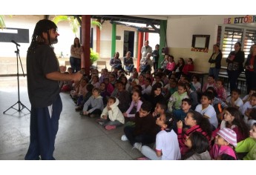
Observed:
[[[104,108],[102,96],[100,96],[99,88],[93,88],[93,95],[85,102],[82,109],[82,115],[90,116],[91,118],[99,116]]]

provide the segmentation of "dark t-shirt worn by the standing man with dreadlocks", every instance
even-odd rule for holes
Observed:
[[[27,91],[31,107],[43,108],[53,104],[59,95],[59,83],[47,79],[46,74],[56,71],[59,71],[59,61],[49,45],[40,45],[27,53]]]

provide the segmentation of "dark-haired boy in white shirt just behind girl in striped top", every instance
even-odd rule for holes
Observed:
[[[203,93],[201,98],[201,104],[197,105],[195,111],[201,113],[203,117],[206,117],[206,119],[209,119],[209,122],[211,123],[211,131],[214,131],[217,128],[218,121],[216,112],[213,106],[211,106],[212,99],[212,93]]]

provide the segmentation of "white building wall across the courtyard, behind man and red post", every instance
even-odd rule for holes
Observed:
[[[31,42],[36,22],[41,19],[44,19],[44,16],[5,16],[5,24],[7,27],[29,29],[29,41]],[[53,19],[53,16],[50,16],[50,19]],[[116,36],[121,36],[121,40],[116,40],[116,51],[119,51],[119,53],[123,52],[124,30],[134,31],[134,56],[137,56],[137,30],[133,27],[116,25]],[[108,21],[104,22],[101,30],[100,58],[111,58],[111,31],[111,23]],[[59,60],[60,65],[64,65],[65,61],[68,60],[70,56],[70,45],[73,44],[75,34],[72,32],[68,22],[59,22],[58,32],[59,42],[58,44],[54,44],[54,51],[58,57],[60,56],[61,52],[63,53],[65,59]],[[30,43],[19,44],[21,45],[19,50],[22,59],[22,65],[24,72],[26,72],[25,57],[27,54],[27,48],[30,46]],[[0,42],[0,48],[0,74],[16,73],[16,53],[14,53],[16,50],[16,45],[12,42]],[[96,51],[96,27],[93,27],[93,50]]]

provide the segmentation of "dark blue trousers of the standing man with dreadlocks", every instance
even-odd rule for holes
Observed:
[[[53,160],[56,134],[59,129],[59,116],[62,112],[60,96],[53,102],[52,115],[48,107],[33,108],[30,113],[30,145],[24,159]]]

